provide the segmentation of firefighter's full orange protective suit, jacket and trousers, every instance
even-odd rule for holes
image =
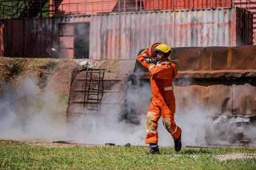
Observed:
[[[143,50],[137,56],[137,61],[150,72],[150,83],[152,88],[152,99],[146,118],[146,143],[158,143],[158,120],[162,116],[164,128],[172,135],[179,138],[181,128],[174,122],[175,97],[172,81],[177,77],[177,69],[169,60],[162,62],[146,63],[148,49]]]

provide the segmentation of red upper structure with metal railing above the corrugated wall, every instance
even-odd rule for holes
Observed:
[[[49,2],[49,1],[47,1]],[[164,4],[164,2],[166,2]],[[168,3],[167,3],[168,2]],[[240,6],[250,10],[251,0],[227,0],[227,1],[199,1],[190,0],[181,4],[177,0],[96,0],[81,3],[46,4],[46,0],[11,0],[0,1],[0,19],[14,19],[23,17],[45,17],[55,15],[90,15],[95,13],[127,12],[127,11],[155,11],[155,10],[177,10],[198,9],[216,7]],[[37,6],[36,6],[37,4]],[[112,4],[112,7],[110,7]],[[113,9],[113,4],[115,8]],[[132,4],[132,5],[131,5]],[[186,4],[186,5],[185,5]],[[38,7],[40,5],[40,7]],[[34,14],[35,10],[37,11]],[[33,12],[33,15],[32,15]]]

